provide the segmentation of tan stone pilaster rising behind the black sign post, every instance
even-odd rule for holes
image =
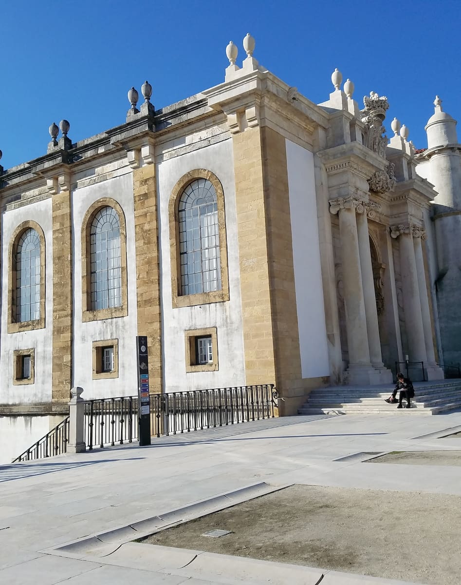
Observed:
[[[153,155],[146,149],[141,156],[148,164],[133,169],[137,319],[138,335],[147,335],[148,340],[150,392],[157,394],[162,392],[157,187]]]

